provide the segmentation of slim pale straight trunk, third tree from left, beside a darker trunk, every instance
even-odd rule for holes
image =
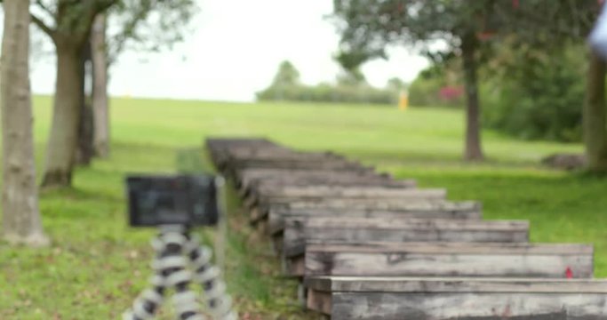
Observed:
[[[99,14],[92,25],[92,112],[95,155],[109,156],[108,57],[106,54],[106,17]]]

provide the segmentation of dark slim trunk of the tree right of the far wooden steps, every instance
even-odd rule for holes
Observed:
[[[464,159],[467,161],[482,161],[483,148],[481,148],[480,114],[478,102],[478,81],[476,76],[476,47],[474,34],[462,37],[461,52],[464,67],[464,83],[466,86],[466,147]]]

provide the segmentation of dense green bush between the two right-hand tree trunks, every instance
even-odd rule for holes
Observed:
[[[585,57],[579,45],[515,52],[518,62],[483,89],[484,124],[523,139],[580,141]]]

